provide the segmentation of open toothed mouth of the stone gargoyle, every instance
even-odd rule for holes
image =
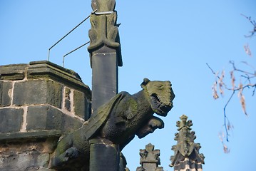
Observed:
[[[153,93],[150,95],[150,100],[151,100],[151,107],[155,113],[157,113],[160,116],[166,116],[167,113],[170,111],[172,108],[171,103],[165,104],[161,102],[160,98],[158,98],[158,95]]]

